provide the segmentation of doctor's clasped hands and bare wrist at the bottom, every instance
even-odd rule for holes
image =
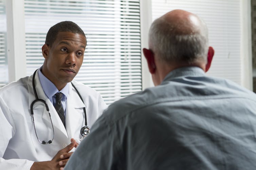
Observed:
[[[51,161],[34,162],[30,170],[63,170],[73,152],[69,152],[78,144],[71,139],[71,144],[58,151]]]

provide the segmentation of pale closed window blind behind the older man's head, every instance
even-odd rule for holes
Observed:
[[[173,9],[190,11],[206,22],[209,46],[215,49],[207,75],[241,84],[240,0],[152,0],[152,19]]]

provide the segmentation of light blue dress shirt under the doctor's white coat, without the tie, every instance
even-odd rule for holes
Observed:
[[[63,106],[63,110],[66,116],[66,100],[69,95],[69,83],[67,83],[67,85],[59,91],[56,88],[56,86],[47,77],[43,75],[41,70],[42,70],[42,67],[38,69],[38,76],[39,76],[39,80],[45,95],[50,99],[52,104],[55,105],[56,97],[54,95],[58,92],[61,92],[63,94],[61,99],[61,104]]]

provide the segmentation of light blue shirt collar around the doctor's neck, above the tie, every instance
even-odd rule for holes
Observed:
[[[57,92],[63,93],[65,95],[65,98],[67,99],[68,94],[69,94],[69,84],[70,83],[67,83],[67,85],[59,91],[56,88],[56,86],[47,77],[45,77],[43,75],[41,70],[42,70],[42,67],[40,67],[40,69],[38,69],[39,80],[40,80],[40,83],[41,83],[41,86],[43,88],[45,95],[50,99],[50,101],[53,102],[52,97]]]

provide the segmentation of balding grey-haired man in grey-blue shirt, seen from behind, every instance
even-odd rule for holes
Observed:
[[[214,49],[204,22],[170,11],[143,52],[156,87],[110,105],[65,170],[255,169],[256,95],[205,75]]]

